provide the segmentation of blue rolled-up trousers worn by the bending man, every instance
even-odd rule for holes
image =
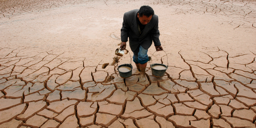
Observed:
[[[149,61],[147,56],[147,50],[144,49],[141,45],[133,52],[133,62],[135,64],[145,64]]]

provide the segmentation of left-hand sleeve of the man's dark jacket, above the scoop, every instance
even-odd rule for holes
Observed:
[[[127,23],[126,13],[125,13],[125,14],[123,14],[123,26],[121,28],[121,41],[122,42],[128,41],[129,31],[130,31],[130,27]]]

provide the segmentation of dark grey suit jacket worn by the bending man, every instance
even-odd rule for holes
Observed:
[[[139,9],[134,9],[123,14],[123,26],[121,28],[121,40],[127,42],[129,37],[129,45],[134,52],[139,45],[144,49],[148,49],[152,45],[152,40],[155,46],[160,46],[158,16],[153,15],[152,19],[145,26],[140,35],[137,23],[137,13]]]

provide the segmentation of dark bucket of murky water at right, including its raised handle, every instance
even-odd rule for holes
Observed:
[[[155,53],[155,52],[154,52]],[[152,56],[154,55],[154,53],[152,54]],[[165,52],[165,54],[166,54],[166,52]],[[167,54],[166,54],[166,57],[167,57]],[[152,58],[152,57],[151,57]],[[153,66],[156,66],[156,65],[160,65],[160,66],[164,66],[164,67],[166,67],[166,69],[154,69],[154,68],[152,68]],[[166,70],[168,69],[168,57],[167,57],[167,66],[166,65],[164,65],[164,64],[150,64],[150,68],[151,68],[151,71],[152,71],[152,75],[154,76],[154,77],[163,77],[164,76],[164,74],[165,74],[165,72],[166,72]]]

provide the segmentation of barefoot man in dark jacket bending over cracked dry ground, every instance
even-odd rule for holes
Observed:
[[[121,28],[121,50],[126,49],[126,42],[129,37],[129,45],[133,51],[133,62],[140,71],[139,82],[145,82],[145,70],[149,61],[147,51],[152,45],[156,51],[163,50],[159,40],[158,16],[149,6],[141,6],[123,15],[123,26]]]

